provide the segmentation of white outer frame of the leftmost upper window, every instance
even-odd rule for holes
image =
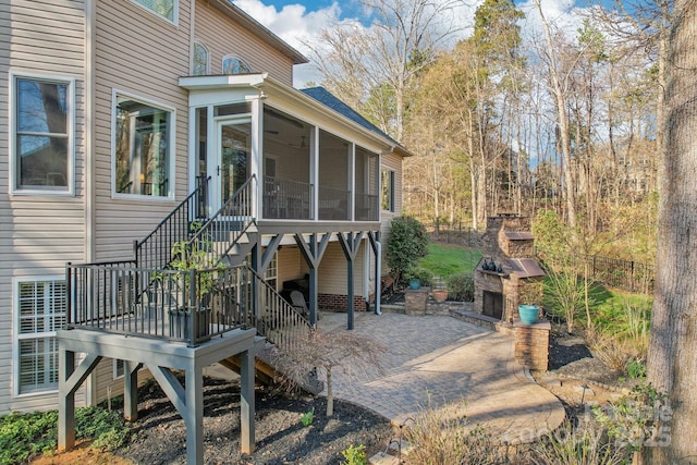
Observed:
[[[46,81],[68,84],[68,186],[64,189],[46,189],[19,187],[17,169],[17,79]],[[10,158],[10,194],[12,195],[48,195],[48,196],[74,196],[75,195],[75,78],[59,74],[37,74],[24,72],[10,72],[9,95],[9,158]]]

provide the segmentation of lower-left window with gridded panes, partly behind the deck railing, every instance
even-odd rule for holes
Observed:
[[[15,393],[58,390],[58,338],[65,323],[63,277],[15,280]]]

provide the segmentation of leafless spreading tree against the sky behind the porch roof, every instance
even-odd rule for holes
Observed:
[[[402,140],[405,98],[415,76],[462,29],[461,0],[363,0],[370,27],[339,23],[305,42],[322,85]]]

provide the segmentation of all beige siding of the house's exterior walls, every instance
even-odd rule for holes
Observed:
[[[54,408],[57,404],[57,392],[13,395],[16,319],[13,279],[62,277],[66,261],[131,259],[133,241],[147,235],[188,194],[188,93],[178,83],[181,76],[191,74],[192,41],[200,39],[208,46],[210,73],[221,72],[222,57],[233,53],[255,71],[269,72],[291,85],[292,61],[203,0],[180,0],[176,24],[130,0],[0,0],[0,26],[3,45],[0,47],[0,414],[3,414]],[[71,195],[11,193],[8,154],[13,73],[74,82]],[[114,194],[117,94],[173,111],[174,169],[169,198]],[[345,127],[325,123],[297,103],[286,102],[278,108],[339,137],[354,138]],[[367,136],[355,142],[374,152],[381,151]],[[402,208],[401,158],[384,156],[383,164],[395,170],[395,213],[381,216],[381,229],[387,231],[389,220]],[[365,256],[363,248],[356,256],[357,296],[364,294]],[[320,294],[345,296],[346,259],[338,243],[329,246],[320,268]],[[297,247],[279,252],[279,287],[283,281],[306,272]],[[111,359],[100,363],[87,384],[89,389],[81,389],[77,394],[78,403],[95,403],[122,392],[122,381],[114,379]]]

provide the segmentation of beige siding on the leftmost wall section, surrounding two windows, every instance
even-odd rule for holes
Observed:
[[[83,0],[0,1],[0,414],[57,405],[56,393],[14,396],[13,279],[85,259],[85,59]],[[74,79],[74,196],[9,193],[10,71]]]

